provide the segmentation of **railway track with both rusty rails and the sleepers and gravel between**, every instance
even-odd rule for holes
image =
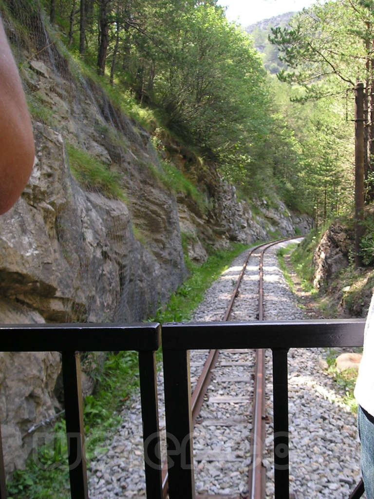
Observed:
[[[260,245],[248,252],[236,281],[233,276],[227,276],[235,285],[219,320],[228,321],[231,316],[235,320],[264,319],[263,256],[268,248],[290,239],[295,238]],[[241,316],[242,311],[239,312],[243,305],[235,306],[242,300],[248,305],[244,316]],[[262,466],[262,444],[266,440],[265,352],[193,351],[190,353],[190,369],[195,481],[196,489],[200,492],[196,498],[264,498],[266,470]],[[223,435],[220,441],[214,438],[217,427],[220,428],[221,437]],[[210,488],[199,483],[199,475],[204,471],[206,462],[213,463],[209,473],[212,484],[217,484]],[[232,463],[238,471],[230,471]],[[227,473],[230,486],[227,486]],[[163,486],[166,498],[166,465]],[[236,491],[234,495],[233,489]]]

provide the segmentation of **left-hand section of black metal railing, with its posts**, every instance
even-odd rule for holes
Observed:
[[[58,351],[62,354],[72,499],[88,499],[79,352],[138,351],[147,497],[162,499],[155,362],[155,351],[160,347],[160,325],[154,323],[3,325],[0,326],[0,334],[0,351],[3,352]],[[149,440],[152,440],[152,446],[148,445]],[[0,446],[0,499],[4,498],[6,498],[5,472]]]

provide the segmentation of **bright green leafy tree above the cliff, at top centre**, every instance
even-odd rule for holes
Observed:
[[[227,22],[221,8],[199,5],[180,16],[174,40],[155,77],[155,96],[170,126],[187,127],[205,149],[222,153],[237,140],[244,143],[248,130],[264,121],[259,110],[267,99],[249,37]]]

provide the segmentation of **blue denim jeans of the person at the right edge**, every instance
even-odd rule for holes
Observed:
[[[367,499],[374,499],[374,417],[359,406],[357,424],[361,440],[361,471]]]

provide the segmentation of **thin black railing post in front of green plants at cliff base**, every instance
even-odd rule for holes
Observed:
[[[88,499],[79,352],[62,352],[66,437],[72,499]]]

